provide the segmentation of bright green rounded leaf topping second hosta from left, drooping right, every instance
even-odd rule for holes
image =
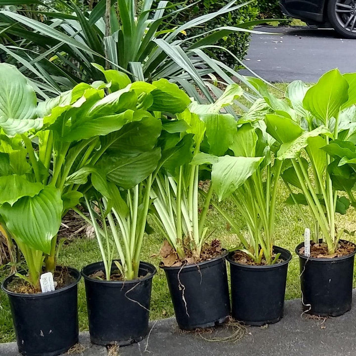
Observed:
[[[177,84],[170,83],[167,79],[159,79],[152,84],[156,89],[151,91],[153,104],[150,111],[177,114],[183,112],[189,105],[189,96],[179,89]]]

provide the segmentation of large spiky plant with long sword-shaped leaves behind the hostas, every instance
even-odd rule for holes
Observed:
[[[153,0],[144,0],[139,15],[134,0],[111,0],[110,9],[110,1],[101,0],[92,11],[82,11],[72,1],[61,1],[66,7],[64,12],[42,3],[46,8],[41,11],[43,22],[20,12],[0,11],[0,36],[10,39],[0,48],[9,55],[10,62],[22,65],[21,71],[31,73],[43,96],[71,89],[80,81],[102,79],[102,73],[91,65],[95,62],[106,69],[124,70],[134,80],[170,79],[196,100],[201,101],[203,96],[212,102],[213,96],[222,94],[213,85],[217,77],[223,84],[232,83],[231,76],[242,81],[244,78],[214,58],[209,48],[231,33],[253,32],[248,28],[258,21],[220,27],[191,38],[186,32],[251,2],[236,5],[236,1],[175,28],[171,23],[179,9],[168,1],[154,5]],[[14,2],[41,3],[0,0],[0,5]]]

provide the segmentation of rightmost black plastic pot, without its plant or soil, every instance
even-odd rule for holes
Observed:
[[[304,242],[296,247],[303,310],[317,316],[340,316],[351,310],[356,252],[336,258],[307,258],[299,252],[303,246]]]

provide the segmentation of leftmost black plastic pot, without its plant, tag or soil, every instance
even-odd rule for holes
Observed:
[[[56,356],[78,343],[79,271],[68,268],[75,281],[53,292],[14,293],[6,289],[15,275],[1,284],[8,295],[17,346],[24,356]],[[21,272],[25,274],[25,272]]]

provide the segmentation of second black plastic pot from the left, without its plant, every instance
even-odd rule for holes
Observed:
[[[117,269],[115,264],[112,270]],[[104,271],[103,262],[82,270],[85,280],[90,341],[98,345],[120,346],[141,341],[148,333],[152,278],[156,268],[140,262],[139,275],[129,281],[107,281],[89,277]]]

